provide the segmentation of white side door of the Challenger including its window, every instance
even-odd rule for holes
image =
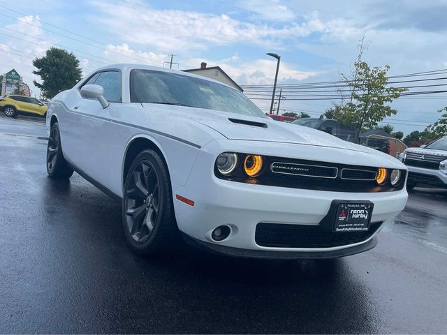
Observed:
[[[81,98],[75,106],[79,124],[75,136],[80,145],[76,148],[75,164],[78,168],[103,186],[108,185],[110,167],[110,137],[116,134],[109,120],[117,114],[122,103],[122,75],[119,70],[105,70],[88,84],[97,84],[104,89],[104,98],[110,103],[101,107],[97,100]]]

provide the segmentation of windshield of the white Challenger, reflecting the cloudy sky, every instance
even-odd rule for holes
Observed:
[[[131,70],[131,102],[183,105],[263,117],[239,91],[216,82],[177,73]]]

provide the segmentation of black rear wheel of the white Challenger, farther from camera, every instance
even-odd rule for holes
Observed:
[[[68,179],[73,174],[62,152],[61,135],[57,122],[51,126],[47,145],[47,174],[54,179]]]

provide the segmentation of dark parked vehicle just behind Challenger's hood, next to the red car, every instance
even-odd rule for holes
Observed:
[[[319,131],[324,131],[325,133],[332,134],[348,142],[354,142],[357,137],[356,128],[345,126],[344,124],[340,124],[339,121],[335,121],[332,119],[305,117],[293,121],[292,124],[299,124],[300,126],[318,129]]]

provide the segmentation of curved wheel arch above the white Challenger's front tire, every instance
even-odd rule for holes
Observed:
[[[144,149],[152,149],[160,154],[161,158],[165,162],[168,167],[168,176],[170,177],[170,166],[168,160],[166,159],[166,154],[161,149],[161,145],[156,142],[153,138],[150,138],[146,135],[136,135],[133,137],[129,143],[126,145],[126,150],[124,151],[124,158],[122,163],[122,175],[121,175],[121,186],[122,191],[124,193],[124,182],[126,181],[127,172],[129,172],[129,168],[131,167],[133,159],[140,154],[140,152]]]

